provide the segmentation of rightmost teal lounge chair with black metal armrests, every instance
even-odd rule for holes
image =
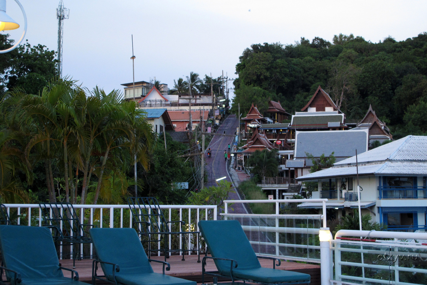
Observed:
[[[205,274],[228,277],[260,284],[308,284],[310,275],[275,269],[281,261],[272,257],[256,256],[242,226],[237,220],[201,220],[199,229],[212,256],[202,260],[202,283]],[[273,259],[273,268],[261,267],[258,258]],[[218,272],[206,272],[207,259],[213,259]]]

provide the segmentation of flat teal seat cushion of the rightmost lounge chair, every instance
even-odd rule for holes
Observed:
[[[240,266],[239,266],[240,267]],[[310,274],[299,273],[288,270],[280,270],[273,268],[256,268],[256,269],[239,269],[233,268],[233,276],[240,279],[254,280],[262,283],[276,283],[276,282],[296,282],[307,281],[310,282]]]

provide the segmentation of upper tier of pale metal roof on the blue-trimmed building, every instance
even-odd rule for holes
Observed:
[[[427,161],[427,136],[408,135],[357,155],[359,163],[385,160]],[[356,156],[336,162],[335,165],[355,164]]]

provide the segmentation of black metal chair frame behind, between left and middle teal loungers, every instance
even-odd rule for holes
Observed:
[[[94,225],[80,223],[79,216],[71,203],[40,203],[39,206],[41,209],[43,226],[47,226],[55,230],[55,233],[53,234],[54,241],[62,243],[62,245],[65,243],[72,246],[73,268],[76,268],[76,257],[79,255],[77,245],[92,243],[92,238],[85,233],[84,226],[93,227]],[[52,209],[52,211],[50,209]],[[62,257],[64,257],[64,254],[62,254]],[[92,256],[88,256],[88,258],[91,257]],[[85,257],[79,257],[79,259],[83,258]]]

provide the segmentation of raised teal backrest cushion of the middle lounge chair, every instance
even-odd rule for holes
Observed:
[[[116,276],[154,272],[135,229],[92,228],[90,233],[99,260],[119,264]],[[111,279],[113,266],[101,263],[101,267]]]

